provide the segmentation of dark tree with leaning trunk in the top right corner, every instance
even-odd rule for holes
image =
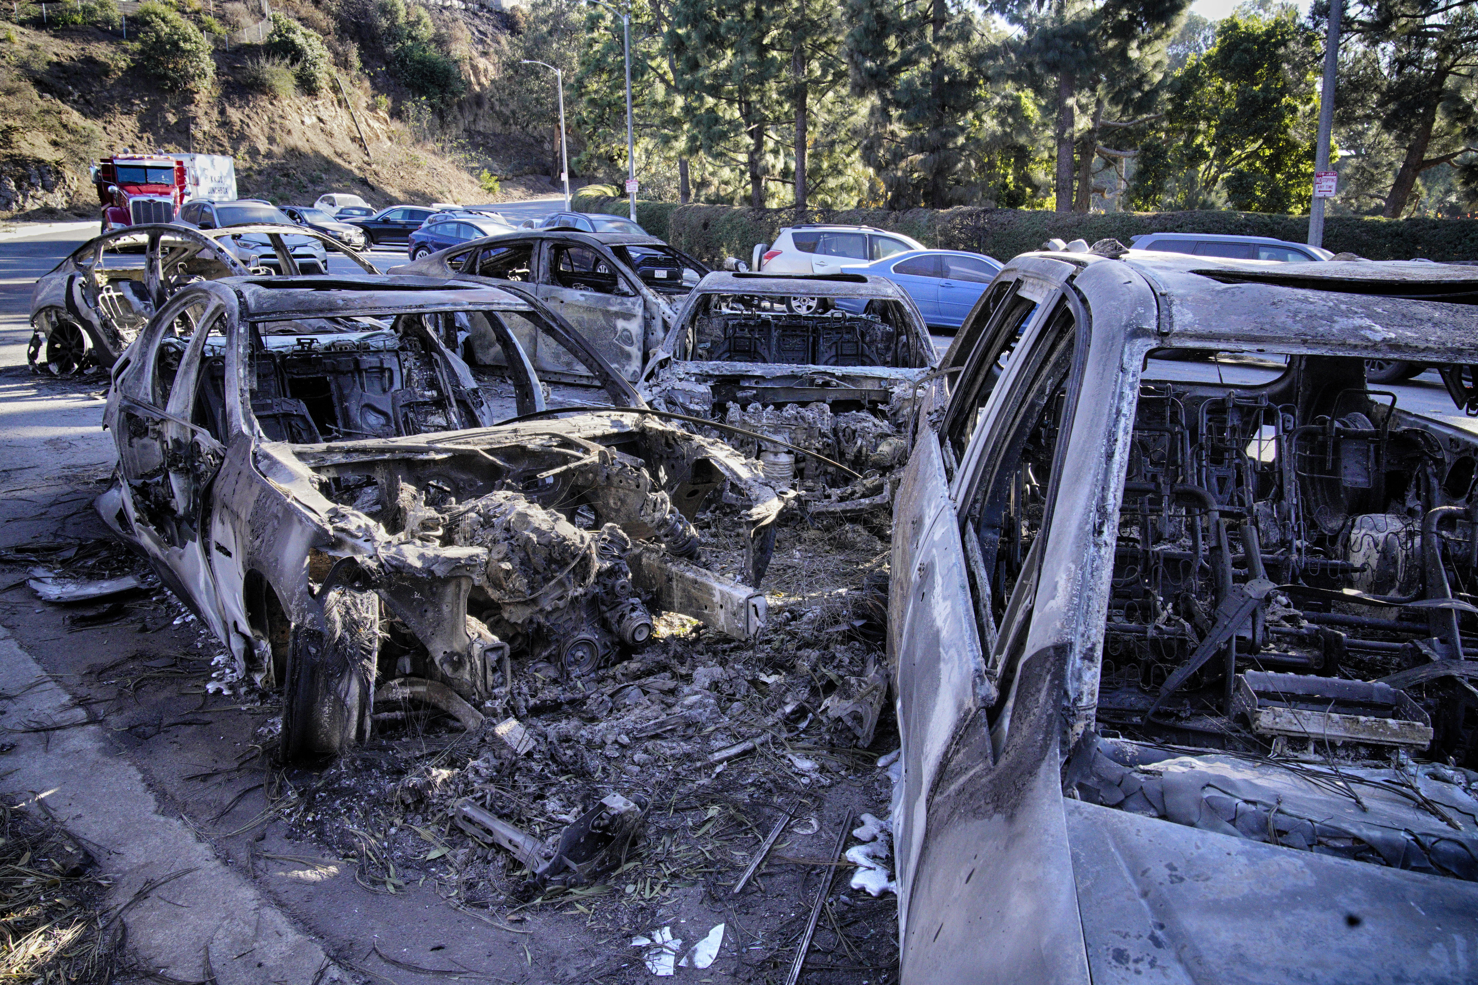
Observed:
[[[1318,7],[1327,15],[1327,0]],[[1321,15],[1318,7],[1314,16]],[[1382,216],[1404,216],[1422,174],[1448,164],[1478,198],[1478,7],[1454,0],[1357,0],[1345,16],[1346,35],[1372,53],[1361,78],[1366,89],[1357,89],[1355,99],[1377,93],[1380,126],[1403,151]]]

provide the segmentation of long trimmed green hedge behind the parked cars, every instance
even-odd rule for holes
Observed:
[[[597,193],[575,196],[578,211],[627,214],[627,199],[600,195],[609,186],[591,186]],[[637,202],[637,222],[705,263],[724,257],[748,261],[757,242],[774,242],[782,226],[795,220],[788,208],[739,208],[733,205],[677,205]],[[973,250],[998,260],[1036,250],[1054,236],[1060,239],[1113,238],[1129,244],[1134,236],[1151,232],[1237,233],[1274,236],[1292,242],[1308,238],[1308,216],[1267,216],[1262,213],[1067,213],[1021,208],[853,208],[813,211],[810,222],[835,222],[891,229],[918,239],[925,247]],[[1324,220],[1324,247],[1335,253],[1354,253],[1369,260],[1474,260],[1478,258],[1478,219],[1361,219],[1332,216]]]

